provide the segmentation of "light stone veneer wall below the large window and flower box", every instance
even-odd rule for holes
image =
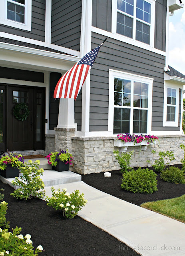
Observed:
[[[172,164],[181,164],[184,158],[184,151],[179,147],[185,142],[185,135],[158,136],[159,142],[151,145],[145,151],[141,151],[140,146],[128,147],[127,151],[134,150],[131,167],[151,166],[146,160],[157,159],[151,150],[159,151],[171,150],[175,155]],[[114,139],[116,137],[75,137],[72,136],[72,154],[74,156],[73,171],[80,174],[90,174],[93,172],[107,172],[119,170],[119,165],[113,156]]]

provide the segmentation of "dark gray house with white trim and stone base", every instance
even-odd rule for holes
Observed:
[[[1,0],[0,150],[68,148],[73,170],[85,174],[119,168],[119,133],[153,134],[156,149],[183,154],[185,76],[168,66],[169,14],[182,7],[179,0]],[[77,100],[54,99],[59,78],[105,37]],[[151,149],[138,158],[137,148],[133,166],[145,166]]]

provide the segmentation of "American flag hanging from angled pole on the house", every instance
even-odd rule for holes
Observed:
[[[54,98],[73,98],[76,100],[102,44],[88,52],[60,78],[54,91]]]

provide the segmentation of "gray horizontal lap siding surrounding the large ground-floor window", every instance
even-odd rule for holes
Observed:
[[[93,32],[92,49],[104,39]],[[165,56],[108,38],[91,69],[90,131],[108,130],[109,69],[153,78],[152,131],[180,130],[163,127],[164,66]]]

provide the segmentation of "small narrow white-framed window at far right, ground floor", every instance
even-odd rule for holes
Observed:
[[[165,86],[163,126],[178,126],[179,122],[179,88]]]

